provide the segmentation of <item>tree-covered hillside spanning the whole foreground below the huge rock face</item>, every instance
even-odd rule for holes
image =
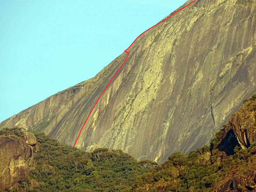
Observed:
[[[253,94],[229,120],[243,114],[240,124],[248,124],[248,114],[254,114],[255,119],[255,106]],[[251,126],[254,130],[255,125]],[[248,126],[245,129],[248,131]],[[84,152],[32,131],[40,148],[32,156],[30,172],[5,191],[255,191],[256,141],[250,143],[247,135],[249,143],[244,148],[235,132],[229,122],[215,134],[210,146],[204,145],[189,154],[175,152],[165,163],[157,165],[138,161],[121,150],[97,148],[92,153]],[[22,139],[24,131],[5,128],[0,134]]]

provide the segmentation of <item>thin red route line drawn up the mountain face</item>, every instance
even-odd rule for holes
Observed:
[[[192,1],[190,4],[192,4],[192,3],[195,2],[195,1],[196,1],[196,0]],[[190,5],[190,4],[188,4],[188,5]],[[186,5],[185,7],[181,8],[181,9],[186,8],[188,5]],[[178,11],[180,11],[181,9],[179,9]],[[178,12],[178,11],[176,11],[176,12]],[[172,15],[170,15],[169,17],[173,16],[176,12],[174,12],[174,13],[173,13]],[[160,21],[159,23],[162,23],[163,21],[167,20],[169,17],[167,17],[166,19]],[[155,27],[155,26],[158,25],[159,23],[155,24],[153,27]],[[148,30],[152,29],[153,27],[150,27]],[[142,34],[144,34],[145,32],[147,32],[148,30],[145,30]],[[133,41],[133,43],[134,43],[142,34],[140,34],[140,35]],[[133,43],[132,43],[132,44],[133,44]],[[129,56],[129,52],[127,52],[127,50],[132,46],[132,44],[124,51],[124,52],[128,53],[127,56],[126,56],[126,58],[125,58],[125,60],[124,60],[124,62],[126,61],[126,59],[127,59],[128,56]],[[124,64],[124,62],[123,62],[123,64]],[[123,64],[119,67],[119,69],[117,70],[117,72],[115,73],[115,75],[114,75],[114,76],[112,77],[112,79],[109,81],[108,85],[109,85],[109,84],[111,83],[111,81],[114,79],[114,77],[115,77],[116,74],[119,72],[119,70],[121,69],[121,67],[123,66]],[[106,88],[108,87],[108,85],[107,85],[107,86],[105,87],[105,89],[102,91],[101,95],[104,93],[104,91],[106,90]],[[101,95],[100,95],[100,97],[98,98],[98,100],[96,101],[96,103],[94,104],[94,106],[93,106],[91,112],[93,111],[95,105],[98,103],[99,99],[101,98]],[[90,112],[90,114],[88,115],[86,121],[84,122],[84,125],[85,125],[85,123],[87,122],[89,116],[91,115],[91,112]],[[84,125],[83,125],[82,129],[80,130],[80,133],[82,132],[82,130],[83,130],[83,128],[84,128]],[[80,133],[78,134],[78,137],[77,137],[76,141],[78,140],[78,138],[79,138],[79,136],[80,136]],[[75,147],[75,145],[76,145],[76,142],[75,142],[75,144],[74,144],[73,147]]]

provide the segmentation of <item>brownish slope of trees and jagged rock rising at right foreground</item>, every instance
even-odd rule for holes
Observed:
[[[210,147],[197,148],[188,155],[173,153],[158,165],[154,181],[139,176],[143,185],[137,185],[135,191],[255,192],[255,111],[256,93],[244,100],[229,123],[215,134]]]

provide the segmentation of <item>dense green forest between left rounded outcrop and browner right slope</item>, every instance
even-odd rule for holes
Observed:
[[[4,129],[1,135],[22,137],[21,128]],[[60,144],[44,133],[33,132],[40,143],[30,173],[20,179],[18,190],[6,191],[128,191],[138,175],[156,167],[139,162],[121,150],[98,148],[92,153]]]

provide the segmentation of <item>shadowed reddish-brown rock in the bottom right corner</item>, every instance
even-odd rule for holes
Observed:
[[[231,191],[256,191],[256,171],[245,172],[246,177],[233,173],[233,177],[219,187],[217,192],[231,192]],[[243,186],[244,188],[242,188]]]

